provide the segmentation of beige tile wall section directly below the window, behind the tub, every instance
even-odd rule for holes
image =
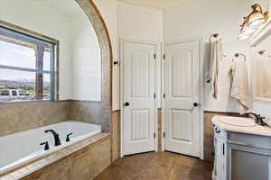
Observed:
[[[0,136],[68,120],[69,109],[69,101],[0,106]]]

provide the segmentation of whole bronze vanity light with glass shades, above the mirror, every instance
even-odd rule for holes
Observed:
[[[238,40],[247,40],[257,31],[261,24],[266,23],[268,20],[268,12],[263,13],[263,9],[259,4],[254,4],[251,8],[252,13],[244,17],[244,23],[241,24]]]

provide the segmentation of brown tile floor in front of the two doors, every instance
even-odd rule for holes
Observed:
[[[170,152],[117,159],[95,180],[211,180],[212,163]]]

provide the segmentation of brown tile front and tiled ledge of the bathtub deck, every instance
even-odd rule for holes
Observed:
[[[0,176],[0,180],[91,180],[111,163],[111,137],[99,133]]]

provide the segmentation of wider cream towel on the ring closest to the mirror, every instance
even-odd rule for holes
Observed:
[[[235,60],[230,68],[230,95],[237,100],[240,114],[248,112],[250,107],[250,92],[248,86],[248,69],[244,60]]]

